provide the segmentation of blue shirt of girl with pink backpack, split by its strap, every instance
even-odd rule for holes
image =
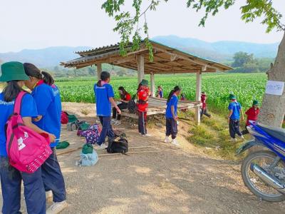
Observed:
[[[9,116],[11,116],[11,114],[14,112],[14,103],[15,101],[4,101],[4,94],[0,93],[0,156],[7,156],[5,125]],[[22,99],[21,116],[22,118],[38,116],[36,103],[29,93],[24,95]]]

